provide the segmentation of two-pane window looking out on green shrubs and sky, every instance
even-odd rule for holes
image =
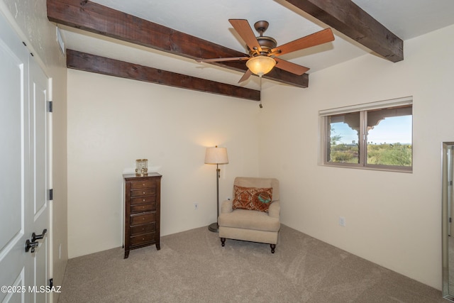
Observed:
[[[323,165],[412,170],[412,99],[320,111]]]

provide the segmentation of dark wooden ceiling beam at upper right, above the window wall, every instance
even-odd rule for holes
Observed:
[[[391,62],[404,60],[404,41],[351,0],[285,0]]]

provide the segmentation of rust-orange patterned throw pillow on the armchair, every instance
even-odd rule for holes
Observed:
[[[235,198],[233,209],[249,209],[268,212],[272,202],[272,187],[240,187],[233,185]]]

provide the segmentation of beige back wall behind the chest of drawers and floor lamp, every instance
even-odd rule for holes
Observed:
[[[204,164],[206,147],[227,148],[221,200],[234,177],[258,175],[258,102],[67,73],[70,258],[122,245],[122,174],[135,159],[163,176],[162,236],[216,221],[216,166]]]

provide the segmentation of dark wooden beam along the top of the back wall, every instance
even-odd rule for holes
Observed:
[[[130,62],[82,53],[76,50],[66,51],[66,62],[67,67],[74,70],[96,72],[97,74],[102,75],[162,84],[182,89],[191,89],[211,94],[221,94],[228,97],[260,101],[260,91],[255,89],[237,87],[231,84],[214,82],[211,80],[177,74],[175,72],[167,72],[153,67],[146,67]]]

